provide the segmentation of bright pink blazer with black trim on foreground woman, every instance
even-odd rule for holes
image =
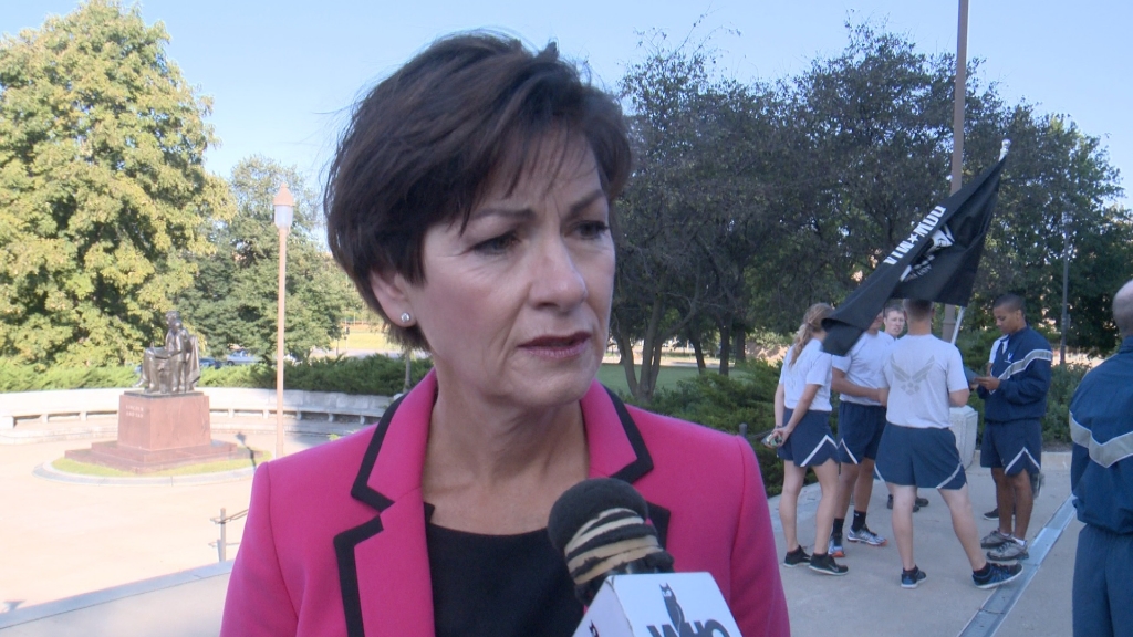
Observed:
[[[376,426],[259,467],[222,636],[434,634],[420,479],[435,392],[429,374]],[[582,414],[590,476],[645,495],[675,569],[710,572],[744,637],[789,635],[751,447],[598,383]]]

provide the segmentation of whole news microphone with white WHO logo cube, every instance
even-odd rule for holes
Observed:
[[[741,637],[712,575],[673,572],[648,517],[645,498],[613,478],[580,482],[551,508],[551,544],[589,606],[574,637]]]

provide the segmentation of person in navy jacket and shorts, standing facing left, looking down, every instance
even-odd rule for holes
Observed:
[[[991,347],[988,375],[976,379],[974,384],[983,399],[980,466],[989,467],[995,479],[999,526],[980,543],[990,549],[988,558],[993,560],[1024,560],[1054,357],[1047,339],[1026,325],[1022,297],[1000,296],[991,314],[1003,338]]]

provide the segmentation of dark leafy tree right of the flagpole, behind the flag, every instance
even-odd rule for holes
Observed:
[[[1119,175],[1101,141],[1070,118],[1039,114],[1028,103],[1004,109],[985,128],[973,146],[997,137],[1010,138],[1012,146],[977,280],[974,321],[990,326],[991,300],[1014,291],[1030,301],[1033,323],[1060,332],[1068,257],[1067,345],[1108,353],[1117,336],[1113,294],[1133,273],[1133,211],[1115,202]]]

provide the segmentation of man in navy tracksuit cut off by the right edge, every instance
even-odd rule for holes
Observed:
[[[1114,295],[1122,347],[1070,404],[1070,485],[1077,519],[1074,635],[1133,636],[1133,281]]]

